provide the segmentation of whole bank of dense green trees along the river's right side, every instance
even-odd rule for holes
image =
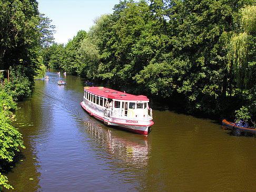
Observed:
[[[252,0],[121,1],[87,35],[48,48],[46,64],[192,114],[256,118],[255,14]]]

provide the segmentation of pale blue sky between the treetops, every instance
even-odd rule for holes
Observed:
[[[77,32],[89,31],[95,18],[112,14],[120,0],[37,0],[38,10],[55,25],[55,42],[67,44]]]

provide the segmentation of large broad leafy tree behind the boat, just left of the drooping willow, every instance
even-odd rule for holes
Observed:
[[[168,38],[159,57],[136,75],[137,82],[162,97],[178,92],[173,98],[190,112],[223,112],[224,106],[230,107],[223,103],[234,101],[225,99],[227,90],[235,88],[226,68],[230,32],[238,30],[239,8],[252,1],[151,2],[162,5],[160,11],[155,11],[157,6],[152,11],[163,15],[159,20],[168,19],[160,30]]]

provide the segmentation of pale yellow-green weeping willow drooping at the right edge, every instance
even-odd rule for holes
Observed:
[[[234,33],[228,53],[228,69],[234,71],[239,88],[250,88],[255,85],[255,35],[256,6],[241,8],[241,29]]]

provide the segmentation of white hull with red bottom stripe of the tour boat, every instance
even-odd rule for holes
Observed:
[[[141,134],[141,135],[147,135],[149,133],[149,127],[154,124],[152,122],[152,120],[150,120],[149,124],[147,124],[147,125],[134,125],[133,123],[135,123],[135,121],[132,121],[132,120],[127,121],[125,119],[106,118],[103,116],[99,116],[99,115],[93,113],[90,110],[90,108],[88,108],[84,104],[84,102],[81,102],[81,106],[84,110],[86,110],[86,112],[88,112],[90,115],[95,117],[97,120],[100,120],[101,122],[103,122],[105,125],[119,127],[119,128],[126,129],[126,130],[129,130],[130,132]],[[123,120],[123,122],[122,122],[122,120]],[[139,123],[139,122],[136,122],[136,123]]]

